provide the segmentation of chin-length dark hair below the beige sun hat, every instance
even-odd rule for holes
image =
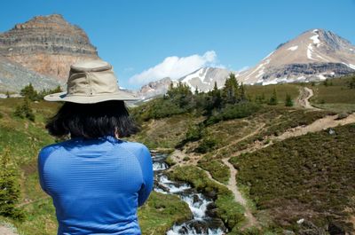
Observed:
[[[130,118],[129,110],[122,100],[109,100],[95,104],[65,102],[45,125],[54,137],[98,138],[114,136],[129,137],[139,130]]]

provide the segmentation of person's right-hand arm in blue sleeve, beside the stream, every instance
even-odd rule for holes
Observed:
[[[138,192],[138,207],[140,207],[148,199],[150,192],[153,190],[154,184],[152,156],[146,145],[142,146],[140,154],[138,155],[138,161],[143,175],[143,184]]]

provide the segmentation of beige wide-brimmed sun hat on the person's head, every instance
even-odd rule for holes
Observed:
[[[96,59],[72,65],[67,79],[67,92],[50,94],[44,99],[92,104],[106,100],[138,100],[139,98],[130,92],[120,90],[113,67],[106,61]]]

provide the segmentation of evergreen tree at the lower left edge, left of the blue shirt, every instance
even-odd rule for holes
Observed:
[[[12,164],[10,151],[5,149],[1,156],[0,171],[0,215],[22,220],[24,213],[16,208],[20,200],[20,184],[16,168]]]

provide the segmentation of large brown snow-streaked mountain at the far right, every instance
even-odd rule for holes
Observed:
[[[330,31],[312,29],[282,43],[238,76],[247,84],[325,80],[355,72],[355,46]]]

